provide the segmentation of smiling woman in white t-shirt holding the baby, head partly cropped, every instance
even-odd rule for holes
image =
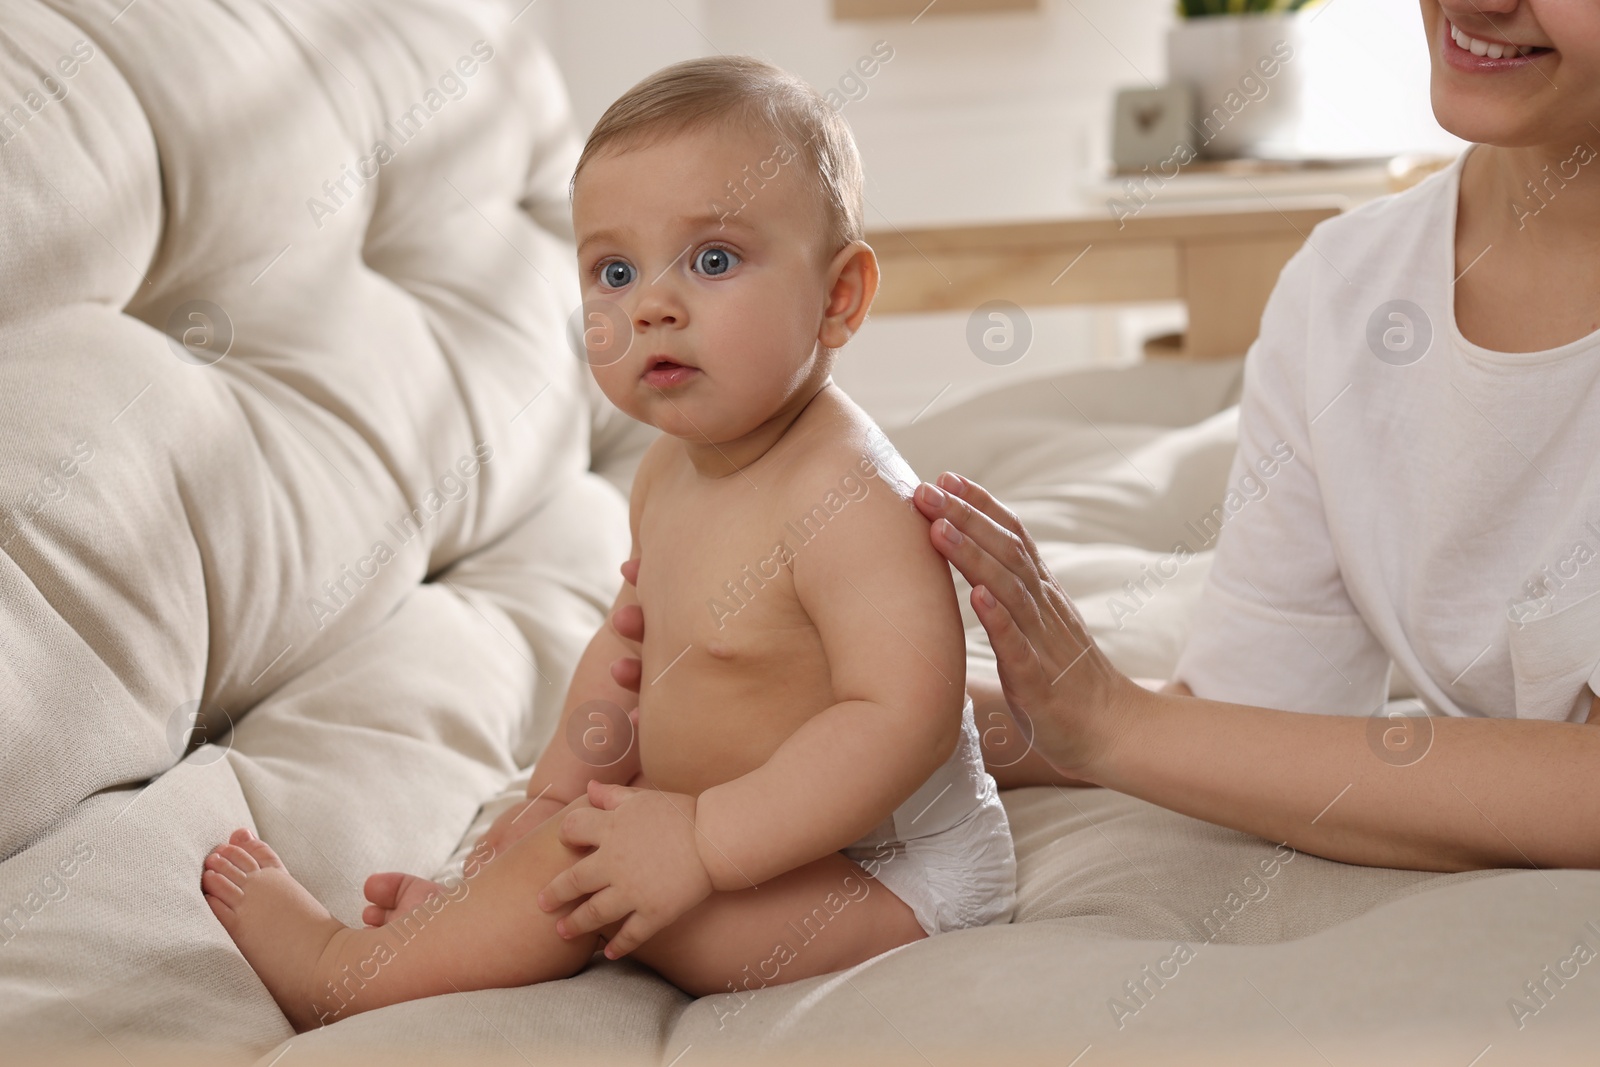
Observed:
[[[1600,867],[1600,5],[1422,21],[1435,115],[1474,147],[1285,267],[1230,483],[1293,459],[1219,539],[1162,691],[987,491],[918,486],[997,656],[968,688],[1003,787],[1106,785],[1352,864]],[[1373,717],[1390,661],[1437,718]]]

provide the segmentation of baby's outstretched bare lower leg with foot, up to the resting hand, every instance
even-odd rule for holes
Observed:
[[[557,840],[558,825],[550,819],[445,896],[368,929],[333,918],[248,830],[206,856],[202,888],[283,1014],[309,1030],[403,1000],[582,969],[598,936],[563,939],[555,921],[576,902],[541,912],[530,889],[582,857]]]

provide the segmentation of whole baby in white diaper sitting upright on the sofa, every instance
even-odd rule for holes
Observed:
[[[566,977],[602,944],[709,995],[1010,921],[950,571],[830,378],[878,282],[861,184],[843,120],[754,59],[667,67],[602,117],[573,178],[589,363],[664,430],[613,608],[643,643],[600,627],[528,800],[461,880],[373,875],[365,929],[248,830],[206,857],[296,1029]],[[635,654],[638,694],[611,677]]]

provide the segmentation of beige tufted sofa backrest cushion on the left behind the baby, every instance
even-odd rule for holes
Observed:
[[[554,729],[626,427],[523,3],[6,0],[0,1029],[280,1038],[205,849],[354,920]]]

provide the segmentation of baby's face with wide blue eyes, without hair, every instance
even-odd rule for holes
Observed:
[[[722,443],[827,379],[818,334],[838,250],[803,166],[776,134],[731,125],[584,165],[573,226],[590,368],[611,403]]]

